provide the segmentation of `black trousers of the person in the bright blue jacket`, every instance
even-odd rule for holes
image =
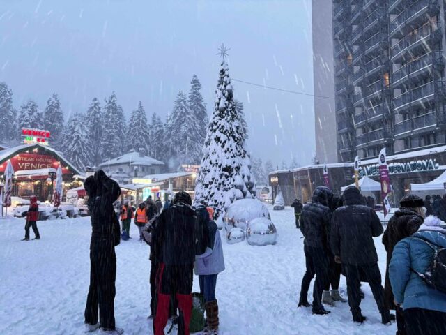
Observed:
[[[404,323],[408,335],[446,334],[446,313],[422,308],[404,310]]]

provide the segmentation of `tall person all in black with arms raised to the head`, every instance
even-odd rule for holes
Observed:
[[[89,195],[87,205],[91,215],[90,287],[84,315],[86,331],[91,332],[101,327],[105,334],[122,334],[123,330],[115,327],[114,320],[114,247],[119,244],[120,228],[113,207],[121,189],[102,170],[87,178],[84,188]]]

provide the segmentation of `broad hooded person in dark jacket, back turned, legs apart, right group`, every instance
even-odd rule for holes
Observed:
[[[343,200],[344,206],[333,214],[330,246],[336,261],[344,267],[353,321],[366,320],[360,308],[360,274],[363,273],[373,292],[382,322],[387,324],[391,321],[390,312],[384,304],[384,289],[373,239],[383,234],[383,225],[373,209],[361,204],[361,193],[354,186],[346,188]]]

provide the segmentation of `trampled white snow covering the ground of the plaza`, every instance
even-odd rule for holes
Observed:
[[[270,208],[271,209],[271,208]],[[351,321],[348,304],[338,303],[326,316],[297,308],[305,259],[293,211],[272,211],[278,231],[275,246],[229,245],[224,239],[226,271],[217,281],[221,334],[394,334],[395,325],[380,324],[367,284],[362,301],[364,325]],[[89,286],[89,218],[42,221],[40,241],[20,241],[24,220],[0,220],[0,334],[82,334]],[[148,246],[130,241],[116,247],[116,325],[125,334],[152,334],[149,313]],[[31,231],[31,237],[33,232]],[[223,237],[223,236],[222,236]],[[376,239],[384,278],[385,251]],[[197,278],[197,277],[196,277]],[[194,281],[194,291],[198,281]],[[346,290],[341,278],[341,290]],[[311,289],[309,301],[312,301]],[[344,294],[345,295],[345,294]]]

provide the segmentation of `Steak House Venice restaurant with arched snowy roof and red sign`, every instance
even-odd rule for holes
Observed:
[[[42,144],[24,144],[0,151],[0,184],[8,161],[14,169],[13,196],[29,199],[36,195],[45,201],[52,195],[55,173],[62,166],[65,186],[76,186],[75,176],[80,172],[66,161],[58,151]],[[73,185],[71,185],[73,184]]]

